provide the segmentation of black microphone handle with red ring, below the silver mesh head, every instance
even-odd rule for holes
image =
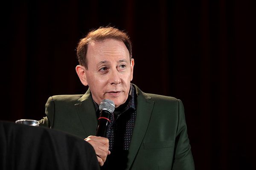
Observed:
[[[98,127],[96,130],[96,136],[106,137],[107,136],[107,129],[110,123],[110,111],[102,110],[99,113],[98,119]]]

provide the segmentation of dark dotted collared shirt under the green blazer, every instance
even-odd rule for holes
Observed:
[[[130,93],[126,102],[115,108],[112,113],[111,122],[107,130],[107,138],[109,139],[109,150],[107,162],[102,169],[125,169],[128,158],[128,149],[136,119],[136,91],[131,85]],[[97,117],[99,117],[99,105],[94,102]],[[106,165],[107,164],[107,165]],[[106,167],[108,166],[108,168]]]

